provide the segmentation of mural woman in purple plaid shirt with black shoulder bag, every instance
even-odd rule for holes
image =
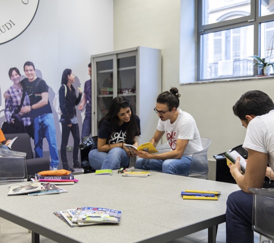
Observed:
[[[20,83],[21,74],[19,70],[17,68],[11,68],[9,70],[9,78],[13,82],[13,85],[5,92],[9,95],[9,98],[5,100],[5,117],[8,126],[5,129],[3,127],[2,130],[4,133],[27,132],[29,136],[33,138],[32,119],[28,113],[25,115],[20,113],[21,108],[19,109],[23,96],[22,107],[30,105],[29,96]],[[25,93],[24,95],[23,92]]]

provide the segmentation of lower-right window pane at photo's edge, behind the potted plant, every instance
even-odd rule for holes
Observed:
[[[261,58],[266,58],[265,62],[274,62],[274,21],[261,23]],[[270,73],[273,69],[269,67]]]

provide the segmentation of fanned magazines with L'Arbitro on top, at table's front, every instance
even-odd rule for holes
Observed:
[[[71,227],[93,224],[119,224],[121,211],[101,207],[78,207],[54,213]]]

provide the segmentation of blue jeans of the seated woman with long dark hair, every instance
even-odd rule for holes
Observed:
[[[93,149],[88,154],[88,161],[95,170],[118,170],[128,166],[129,157],[124,149],[118,147],[112,148],[108,153]]]

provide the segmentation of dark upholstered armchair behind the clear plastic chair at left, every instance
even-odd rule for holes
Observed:
[[[29,175],[35,175],[35,173],[49,170],[49,158],[33,158],[33,152],[31,148],[31,141],[29,134],[27,133],[16,133],[16,134],[4,134],[6,140],[15,139],[11,145],[11,150],[18,152],[25,152],[26,163],[27,163],[27,172]],[[5,144],[5,142],[3,142]]]

